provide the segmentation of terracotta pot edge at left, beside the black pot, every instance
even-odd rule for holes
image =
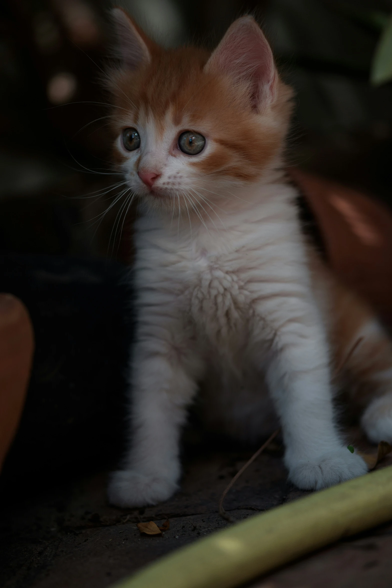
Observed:
[[[33,350],[28,310],[15,296],[0,294],[0,469],[22,414]]]

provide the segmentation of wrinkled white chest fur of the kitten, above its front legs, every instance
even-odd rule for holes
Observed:
[[[284,187],[287,189],[287,186]],[[276,189],[276,186],[274,186]],[[225,218],[225,228],[142,218],[136,233],[138,306],[181,313],[220,348],[243,346],[255,305],[307,282],[304,248],[287,193]],[[293,286],[295,283],[295,286]],[[259,308],[260,310],[260,308]]]

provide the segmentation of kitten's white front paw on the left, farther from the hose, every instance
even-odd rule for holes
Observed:
[[[108,498],[112,505],[126,507],[156,505],[177,490],[172,480],[146,476],[135,470],[114,472],[109,482]]]

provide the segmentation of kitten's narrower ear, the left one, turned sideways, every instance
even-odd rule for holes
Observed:
[[[151,55],[142,31],[133,24],[122,8],[113,8],[112,20],[118,38],[119,56],[128,69],[138,69],[151,61]]]

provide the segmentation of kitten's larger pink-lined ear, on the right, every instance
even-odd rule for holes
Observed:
[[[271,48],[251,16],[242,16],[227,29],[205,71],[229,74],[250,86],[252,107],[262,110],[274,98],[277,71]]]

